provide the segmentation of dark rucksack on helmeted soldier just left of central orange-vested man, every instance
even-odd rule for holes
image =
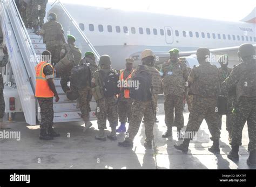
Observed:
[[[99,70],[99,76],[105,97],[110,98],[120,93],[120,88],[118,88],[119,76],[117,72],[110,70],[104,75],[104,73]]]

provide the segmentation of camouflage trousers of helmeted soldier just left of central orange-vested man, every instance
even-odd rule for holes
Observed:
[[[96,117],[98,122],[98,128],[106,129],[106,120],[109,120],[110,127],[116,127],[118,125],[117,115],[117,97],[102,98],[97,102]]]

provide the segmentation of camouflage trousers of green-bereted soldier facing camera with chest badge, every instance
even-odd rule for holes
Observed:
[[[178,95],[165,95],[164,110],[167,127],[184,127],[183,97]],[[175,117],[174,115],[175,109]]]

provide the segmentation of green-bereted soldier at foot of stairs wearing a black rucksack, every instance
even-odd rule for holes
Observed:
[[[93,79],[94,72],[98,70],[98,65],[95,61],[95,54],[93,52],[86,52],[85,58],[83,58],[80,64],[87,64],[91,71],[91,79]],[[90,84],[87,84],[90,85]],[[71,85],[72,86],[72,85]],[[78,99],[77,99],[77,108],[80,109],[80,112],[82,113],[81,117],[84,120],[84,132],[92,126],[92,123],[90,122],[90,101],[92,100],[92,91],[91,87],[87,86],[83,89],[78,89]]]

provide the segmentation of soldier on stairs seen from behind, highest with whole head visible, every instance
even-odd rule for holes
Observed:
[[[51,52],[51,61],[52,65],[54,66],[60,60],[60,51],[62,50],[62,45],[66,42],[62,24],[56,21],[56,14],[50,13],[48,20],[49,22],[43,25],[41,31],[39,31],[39,34],[43,35],[46,50]]]

